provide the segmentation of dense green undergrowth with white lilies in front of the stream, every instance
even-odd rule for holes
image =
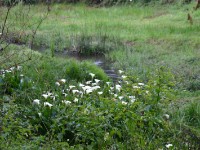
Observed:
[[[77,67],[81,64],[72,60],[69,66],[54,58],[42,60],[1,70],[2,148],[13,148],[12,144],[22,148],[26,146],[22,140],[35,143],[35,148],[56,141],[54,148],[175,146],[165,114],[174,83],[164,68],[151,74],[147,83],[122,71],[122,80],[113,83],[98,73],[100,69],[87,68],[87,63]]]

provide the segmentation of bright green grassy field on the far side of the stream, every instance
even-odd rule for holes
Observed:
[[[193,11],[194,5],[95,8],[84,4],[55,4],[39,28],[35,44],[55,45],[56,50],[62,51],[81,44],[79,37],[106,36],[119,45],[106,53],[115,61],[117,69],[125,68],[145,76],[155,66],[166,65],[181,77],[183,88],[197,91],[200,87],[200,11]],[[31,21],[37,21],[44,11],[44,6],[34,6]],[[193,25],[187,20],[188,13],[193,16]]]

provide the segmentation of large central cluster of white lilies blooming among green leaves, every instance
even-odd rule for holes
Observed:
[[[104,95],[104,92],[108,90],[107,92],[110,94],[110,96],[113,96],[114,101],[121,103],[122,105],[130,105],[136,101],[136,97],[131,94],[123,94],[122,86],[123,83],[129,84],[126,80],[128,77],[124,75],[124,71],[119,70],[119,73],[122,75],[122,79],[124,81],[119,82],[118,84],[114,84],[112,82],[106,82],[106,84],[102,84],[103,82],[99,79],[95,78],[94,73],[89,73],[89,75],[92,77],[91,80],[86,81],[84,83],[79,83],[78,85],[66,85],[67,82],[66,79],[60,79],[55,84],[57,86],[61,86],[62,93],[58,95],[52,93],[52,92],[44,92],[41,95],[41,98],[43,100],[43,106],[52,108],[54,101],[58,101],[58,99],[61,99],[60,102],[65,104],[65,106],[74,105],[76,103],[79,103],[79,101],[84,97],[88,97],[90,94],[96,94],[98,96]],[[125,82],[127,81],[127,82]],[[122,83],[122,84],[121,84]],[[140,89],[144,87],[144,83],[137,83],[132,86],[133,89]],[[106,92],[106,93],[107,93]],[[148,94],[148,91],[146,91],[146,94]],[[52,102],[53,104],[51,104]],[[40,105],[41,100],[35,99],[33,100],[33,105]],[[42,106],[42,105],[40,105]]]

